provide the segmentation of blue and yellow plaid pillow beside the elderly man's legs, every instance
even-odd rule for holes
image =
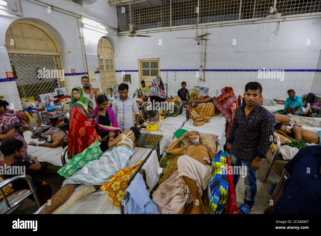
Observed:
[[[214,156],[212,175],[207,187],[208,211],[210,214],[221,214],[225,208],[229,187],[226,174],[226,156],[221,150]]]

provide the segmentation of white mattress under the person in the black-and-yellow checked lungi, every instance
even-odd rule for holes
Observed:
[[[160,155],[163,154],[168,148],[169,144],[174,138],[174,132],[178,129],[181,129],[186,122],[186,111],[183,110],[182,114],[176,117],[168,117],[161,120],[159,124],[158,131],[149,132],[145,128],[142,128],[141,132],[163,135],[163,138],[160,140]],[[145,123],[146,125],[146,123]]]

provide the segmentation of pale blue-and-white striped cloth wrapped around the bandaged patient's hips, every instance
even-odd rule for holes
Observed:
[[[86,185],[103,185],[111,179],[118,170],[127,167],[129,158],[134,153],[133,149],[124,145],[115,147],[98,159],[85,164],[82,169],[78,170],[68,179],[65,179],[62,186],[66,184],[83,184],[75,191]]]

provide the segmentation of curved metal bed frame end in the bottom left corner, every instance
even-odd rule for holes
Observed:
[[[3,187],[8,185],[8,184],[11,184],[12,182],[18,180],[18,179],[24,179],[28,182],[28,185],[29,185],[29,188],[30,188],[30,193],[28,195],[26,195],[25,197],[23,197],[22,199],[20,199],[18,202],[14,203],[13,205],[10,205],[7,197],[5,196],[4,194],[4,191],[3,191]],[[2,197],[5,201],[5,204],[7,205],[8,209],[4,211],[3,214],[5,213],[10,213],[12,212],[13,210],[15,210],[21,203],[24,199],[26,199],[27,197],[29,197],[31,194],[33,194],[33,197],[36,201],[36,204],[37,204],[37,207],[38,209],[41,207],[41,202],[39,200],[39,197],[38,197],[38,194],[37,194],[37,191],[36,191],[36,188],[35,188],[35,185],[33,184],[33,180],[32,178],[29,176],[29,175],[18,175],[18,176],[14,176],[12,178],[9,178],[9,179],[6,179],[4,180],[3,182],[0,183],[0,192],[2,194]]]

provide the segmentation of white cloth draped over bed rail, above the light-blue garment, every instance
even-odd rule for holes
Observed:
[[[160,163],[158,162],[157,152],[152,151],[151,156],[147,159],[142,169],[146,173],[146,184],[148,186],[147,191],[151,192],[160,178],[161,171],[159,171]]]

